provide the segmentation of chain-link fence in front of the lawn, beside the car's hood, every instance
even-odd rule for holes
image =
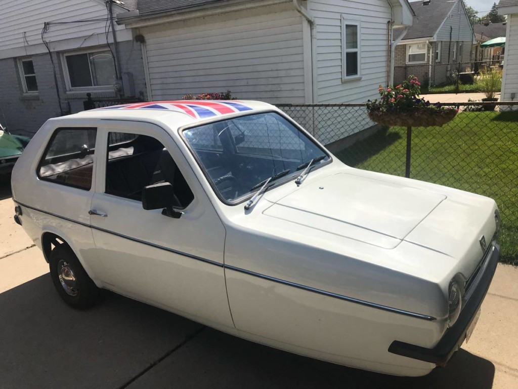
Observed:
[[[415,127],[411,178],[496,200],[503,261],[518,265],[518,102],[462,103],[443,127]],[[383,128],[364,104],[278,105],[344,163],[405,176],[407,128]]]

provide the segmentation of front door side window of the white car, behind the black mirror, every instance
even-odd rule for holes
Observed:
[[[174,159],[160,141],[147,135],[108,133],[106,193],[141,201],[144,187],[164,182],[173,186],[178,208],[188,206],[194,199]]]

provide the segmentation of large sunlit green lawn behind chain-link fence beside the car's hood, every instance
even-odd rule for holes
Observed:
[[[393,127],[336,153],[357,168],[405,175],[406,129]],[[414,128],[411,177],[498,203],[501,260],[518,265],[518,112],[463,112],[446,126]]]

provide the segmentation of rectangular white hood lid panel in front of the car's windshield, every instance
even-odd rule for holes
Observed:
[[[303,183],[264,214],[394,248],[446,198],[426,189],[339,173]]]

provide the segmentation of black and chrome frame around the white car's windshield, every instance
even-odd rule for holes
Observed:
[[[325,161],[322,164],[312,166],[310,171],[318,170],[320,168],[323,168],[324,166],[327,166],[330,163],[333,163],[333,157],[332,157],[331,154],[329,154],[329,151],[327,151],[323,146],[321,146],[318,142],[316,142],[314,140],[313,136],[309,132],[307,132],[304,128],[302,128],[300,126],[300,124],[298,124],[292,118],[290,118],[289,116],[287,116],[283,112],[280,112],[280,111],[275,110],[275,109],[253,110],[252,112],[247,112],[246,114],[229,115],[228,117],[225,117],[223,119],[222,118],[215,118],[214,120],[202,121],[202,122],[197,122],[197,123],[193,123],[193,124],[186,124],[185,126],[179,127],[178,128],[178,135],[180,136],[181,140],[183,141],[183,144],[189,150],[189,152],[191,154],[191,157],[196,161],[196,164],[198,165],[198,169],[200,170],[200,172],[202,172],[203,176],[205,177],[205,180],[206,180],[207,184],[209,185],[210,189],[212,189],[212,192],[214,193],[214,195],[218,198],[218,200],[220,200],[225,205],[235,206],[235,205],[243,204],[244,202],[250,200],[255,195],[255,192],[249,193],[248,195],[241,196],[241,197],[239,197],[239,198],[237,198],[237,199],[235,199],[233,201],[228,201],[223,196],[221,196],[220,191],[218,190],[218,188],[212,182],[212,179],[210,178],[207,170],[204,168],[204,165],[203,165],[202,161],[199,159],[198,155],[196,154],[196,151],[191,146],[189,141],[185,138],[183,133],[186,130],[189,130],[191,128],[205,126],[206,124],[211,124],[211,123],[215,123],[215,122],[218,122],[218,121],[232,120],[232,119],[234,119],[236,117],[250,116],[250,115],[259,115],[259,114],[267,114],[267,113],[277,114],[277,115],[281,116],[282,118],[284,118],[286,121],[288,121],[291,124],[293,124],[293,126],[297,130],[299,130],[304,135],[306,135],[309,138],[309,140],[311,142],[313,142],[313,144],[316,147],[318,147],[323,152],[323,154],[325,154],[329,158],[327,161]],[[296,178],[297,178],[297,175],[287,176],[285,178],[280,178],[280,179],[276,180],[271,186],[267,187],[263,191],[263,194],[266,193],[267,191],[271,190],[271,189],[274,189],[274,188],[277,188],[277,187],[279,187],[281,185],[284,185],[284,184],[286,184],[289,181],[293,181]],[[206,188],[204,188],[204,190],[207,191]],[[193,193],[194,193],[194,191],[193,191]],[[207,195],[208,195],[208,193],[207,193]]]

